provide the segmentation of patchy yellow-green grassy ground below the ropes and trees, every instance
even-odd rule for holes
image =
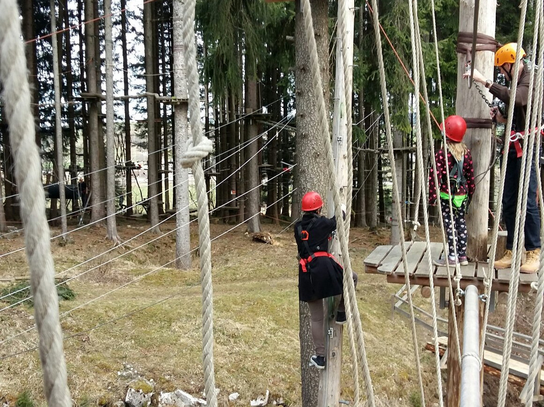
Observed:
[[[126,241],[146,227],[145,221],[120,220],[119,234]],[[172,227],[170,223],[161,229],[165,232]],[[191,244],[195,246],[198,239],[196,225],[193,227]],[[228,227],[212,224],[212,237]],[[292,230],[282,232],[282,227],[268,224],[263,229],[273,235],[279,233],[273,245],[252,242],[243,226],[212,244],[214,359],[220,405],[248,405],[267,389],[274,399],[282,397],[290,406],[301,405],[296,245]],[[53,235],[57,232],[54,230]],[[66,273],[75,276],[90,270],[68,283],[76,298],[60,303],[62,313],[92,301],[61,318],[65,336],[84,332],[64,342],[76,405],[101,405],[108,399],[119,399],[127,382],[140,376],[153,379],[157,390],[183,389],[201,396],[198,259],[193,256],[193,267],[188,271],[164,267],[129,283],[174,258],[174,233],[127,254],[130,248],[151,239],[146,233],[101,255],[112,248],[105,235],[103,227],[91,227],[73,233],[69,244],[52,242],[57,272],[96,257]],[[416,407],[421,400],[409,323],[398,315],[393,317],[391,311],[391,294],[399,286],[388,285],[383,276],[363,272],[364,257],[376,245],[385,244],[388,236],[387,230],[351,231],[350,255],[360,276],[357,300],[380,404]],[[0,252],[22,245],[22,237],[0,239]],[[103,264],[122,254],[118,260]],[[23,252],[0,258],[0,277],[27,274]],[[419,297],[417,301],[429,307],[428,300]],[[6,305],[0,300],[2,308]],[[108,323],[146,306],[143,311]],[[25,305],[1,311],[0,338],[4,340],[32,326],[32,313],[33,309]],[[34,347],[36,338],[33,330],[1,344],[0,357]],[[419,338],[425,397],[427,405],[432,405],[437,400],[434,357],[421,349],[428,333],[419,332]],[[345,349],[342,398],[351,400],[353,379]],[[45,405],[36,351],[0,360],[0,396],[14,399],[22,392],[36,405]],[[233,392],[240,393],[240,397],[228,402],[228,394]]]

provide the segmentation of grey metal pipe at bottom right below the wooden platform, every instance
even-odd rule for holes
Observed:
[[[465,290],[461,355],[461,407],[481,407],[479,308],[478,288],[468,286]]]

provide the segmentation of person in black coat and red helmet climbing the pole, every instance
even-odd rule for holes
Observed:
[[[336,230],[336,217],[322,216],[323,200],[317,192],[302,197],[302,218],[295,224],[295,241],[299,254],[299,300],[310,307],[311,329],[316,354],[310,365],[325,368],[325,337],[323,299],[342,295],[342,266],[329,252],[332,232]],[[345,206],[342,205],[345,219]],[[357,274],[353,273],[355,285]],[[345,324],[343,298],[338,306],[337,324]]]

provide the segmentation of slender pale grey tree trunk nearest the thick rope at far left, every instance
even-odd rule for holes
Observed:
[[[66,191],[64,189],[64,149],[63,149],[63,127],[62,127],[62,110],[60,107],[60,78],[59,78],[59,44],[57,42],[57,16],[55,8],[55,0],[50,1],[51,7],[51,45],[53,48],[53,86],[55,98],[55,151],[57,152],[57,180],[59,184],[60,198],[60,224],[61,238],[66,240],[66,232],[68,224],[66,221]],[[61,36],[59,36],[61,38]]]

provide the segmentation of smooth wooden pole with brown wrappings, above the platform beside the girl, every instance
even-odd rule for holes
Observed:
[[[474,0],[460,2],[459,32],[473,31]],[[497,3],[494,0],[480,0],[478,13],[478,31],[494,37],[495,13]],[[467,44],[468,45],[468,44]],[[469,44],[472,45],[472,44]],[[467,79],[462,78],[465,73],[466,54],[458,54],[458,79],[456,112],[463,118],[489,119],[489,107],[480,97],[477,85],[483,90],[484,95],[491,101],[491,94],[485,87],[473,84],[468,89]],[[485,77],[493,78],[493,52],[476,52],[472,64]],[[489,167],[491,157],[491,130],[471,128],[467,130],[464,143],[472,151],[474,161],[474,174],[478,174],[478,188],[472,197],[471,211],[467,215],[468,248],[467,255],[477,261],[487,260],[487,206],[489,204]],[[481,175],[480,175],[481,174]]]

